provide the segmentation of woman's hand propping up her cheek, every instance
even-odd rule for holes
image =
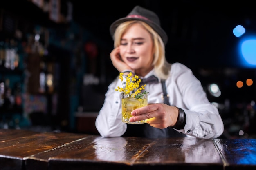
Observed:
[[[112,50],[110,53],[110,59],[112,61],[112,64],[119,72],[122,72],[124,70],[132,70],[130,66],[128,66],[122,59],[119,54],[119,47],[116,47],[115,49]],[[133,71],[133,70],[132,70]]]

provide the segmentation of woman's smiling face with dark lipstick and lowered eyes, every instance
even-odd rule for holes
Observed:
[[[153,69],[153,42],[150,33],[135,23],[121,37],[121,59],[135,70],[137,75],[145,76]]]

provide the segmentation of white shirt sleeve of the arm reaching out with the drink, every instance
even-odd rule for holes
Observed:
[[[186,66],[182,64],[172,66],[175,67],[171,73],[172,81],[176,82],[173,92],[177,97],[175,104],[186,114],[184,129],[177,131],[204,139],[213,139],[222,135],[224,131],[222,118],[218,108],[209,102],[201,82]]]

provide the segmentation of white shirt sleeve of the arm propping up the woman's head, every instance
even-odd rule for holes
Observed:
[[[115,91],[117,86],[123,85],[125,86],[125,82],[122,84],[117,78],[108,86],[104,104],[95,121],[95,126],[103,137],[120,137],[127,129],[127,125],[121,118],[121,93]]]

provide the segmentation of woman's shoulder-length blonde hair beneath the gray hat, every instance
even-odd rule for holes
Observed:
[[[130,28],[135,23],[141,24],[148,33],[150,33],[152,41],[153,41],[153,62],[152,65],[155,68],[155,73],[160,79],[166,80],[170,73],[171,64],[166,61],[165,58],[165,46],[162,38],[158,35],[158,33],[152,29],[151,26],[146,24],[143,21],[132,20],[126,21],[121,23],[117,29],[115,30],[114,34],[114,47],[120,46],[121,44],[121,37],[123,36],[124,32]]]

